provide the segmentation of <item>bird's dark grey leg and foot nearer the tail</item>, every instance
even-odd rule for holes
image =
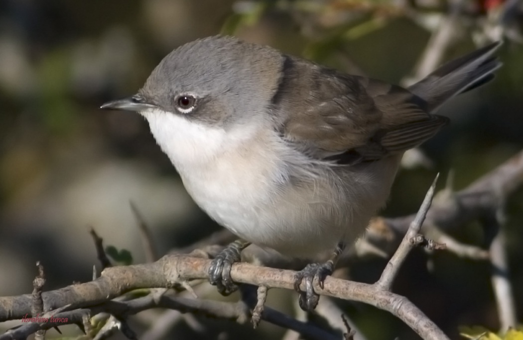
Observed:
[[[294,289],[300,293],[300,308],[304,311],[312,311],[316,308],[320,296],[316,294],[312,287],[312,282],[316,277],[320,288],[323,289],[323,282],[327,275],[334,272],[336,262],[338,262],[339,255],[343,253],[345,243],[340,242],[336,245],[336,249],[332,253],[329,260],[325,263],[310,263],[294,276]],[[305,291],[300,289],[302,280],[305,280]]]

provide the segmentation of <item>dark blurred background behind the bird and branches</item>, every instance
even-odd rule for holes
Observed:
[[[426,158],[414,157],[399,173],[382,212],[394,217],[416,212],[436,172],[445,178],[453,170],[460,190],[523,147],[522,17],[518,1],[503,0],[0,0],[0,296],[30,292],[36,261],[46,269],[45,289],[90,280],[98,261],[89,227],[106,245],[128,249],[134,263],[143,262],[130,201],[160,254],[219,230],[191,201],[141,116],[98,109],[135,93],[177,46],[229,33],[348,73],[407,84],[423,73],[426,46],[444,25],[452,26],[441,62],[504,34],[504,66],[496,79],[441,108],[451,126],[423,145]],[[507,217],[521,321],[521,191],[511,197]],[[485,246],[480,225],[452,236]],[[374,282],[385,263],[379,257],[359,261],[351,278]],[[460,325],[499,327],[488,262],[418,251],[395,291],[452,338],[459,338]],[[295,299],[292,292],[271,290],[268,304],[292,313]],[[385,312],[348,302],[340,307],[369,339],[417,338]],[[204,332],[179,323],[169,335],[263,339],[285,333],[264,322],[254,331],[198,320]],[[150,324],[142,318],[134,326],[142,334]],[[49,331],[53,336],[59,335]]]

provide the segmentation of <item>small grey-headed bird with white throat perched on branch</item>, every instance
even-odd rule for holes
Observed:
[[[143,115],[194,201],[240,238],[209,269],[222,294],[237,288],[230,269],[251,243],[306,259],[332,252],[295,276],[311,310],[313,279],[323,288],[384,206],[403,153],[448,123],[434,111],[493,78],[500,45],[402,88],[214,36],[175,49],[136,95],[101,108]]]

